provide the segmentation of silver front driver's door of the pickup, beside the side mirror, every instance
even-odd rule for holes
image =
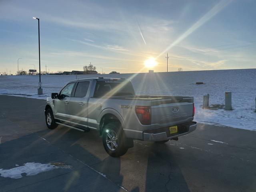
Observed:
[[[59,98],[54,99],[54,118],[69,121],[69,102],[74,90],[75,83],[67,84],[59,94]]]

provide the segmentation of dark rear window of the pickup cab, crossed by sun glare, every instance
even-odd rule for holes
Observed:
[[[98,81],[94,97],[135,95],[130,81]]]

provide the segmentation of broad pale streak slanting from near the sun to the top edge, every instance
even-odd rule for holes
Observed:
[[[184,32],[177,40],[170,44],[162,53],[160,53],[156,58],[165,54],[170,48],[181,42],[184,38],[189,36],[197,28],[202,26],[205,22],[210,20],[214,15],[216,15],[220,10],[226,7],[232,0],[221,0],[218,2],[210,11],[208,11],[204,16],[202,16],[196,23],[194,23],[186,32]]]

